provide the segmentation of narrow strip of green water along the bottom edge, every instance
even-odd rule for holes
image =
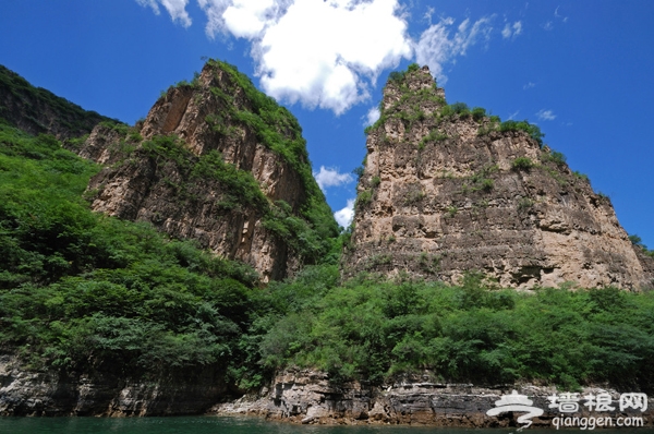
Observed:
[[[525,430],[540,434],[555,429]],[[562,432],[560,430],[559,432]],[[566,433],[580,430],[566,430]],[[619,430],[620,434],[651,433],[649,429]],[[0,433],[11,434],[509,434],[516,430],[472,430],[422,426],[319,426],[266,422],[254,418],[0,418]],[[617,434],[618,430],[602,430]]]

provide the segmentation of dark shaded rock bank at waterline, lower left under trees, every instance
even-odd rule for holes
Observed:
[[[107,366],[105,366],[107,367]],[[149,381],[129,373],[62,374],[25,370],[15,355],[0,355],[0,415],[201,414],[227,387],[213,369],[174,372]]]

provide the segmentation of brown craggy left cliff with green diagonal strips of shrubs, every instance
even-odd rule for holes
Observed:
[[[296,120],[225,63],[170,87],[134,129],[98,125],[80,155],[111,165],[89,183],[94,210],[197,240],[263,282],[320,260],[337,232]]]

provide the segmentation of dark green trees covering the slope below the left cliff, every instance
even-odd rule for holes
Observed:
[[[239,366],[254,272],[92,213],[96,170],[0,125],[0,345],[35,367]]]

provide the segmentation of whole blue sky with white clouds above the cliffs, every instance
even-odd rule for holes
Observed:
[[[299,118],[335,212],[388,73],[431,67],[449,103],[528,119],[654,248],[649,0],[0,0],[0,63],[128,123],[226,60]],[[322,169],[323,168],[323,169]]]

